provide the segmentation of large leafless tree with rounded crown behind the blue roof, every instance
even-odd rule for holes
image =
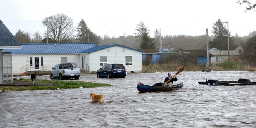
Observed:
[[[56,14],[50,17],[45,17],[42,20],[42,24],[45,26],[48,24],[50,38],[54,40],[54,43],[65,43],[73,37],[73,19],[65,14]]]

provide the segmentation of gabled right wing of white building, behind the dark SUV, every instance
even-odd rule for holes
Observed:
[[[127,72],[142,72],[142,52],[121,45],[95,46],[80,52],[90,71],[97,71],[104,64],[123,64]],[[80,60],[82,62],[82,60]]]

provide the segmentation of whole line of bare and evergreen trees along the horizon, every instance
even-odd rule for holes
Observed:
[[[190,35],[166,35],[162,36],[158,29],[154,31],[154,37],[150,37],[150,30],[144,22],[137,24],[135,28],[136,33],[133,35],[109,37],[97,36],[96,33],[87,26],[84,19],[78,23],[74,29],[73,19],[65,14],[56,14],[50,17],[45,17],[42,24],[48,26],[48,43],[94,43],[95,45],[110,45],[119,44],[126,47],[136,49],[159,49],[161,38],[162,48],[180,48],[184,50],[206,50],[206,35],[190,36]],[[234,50],[237,45],[246,43],[249,38],[256,35],[253,31],[248,36],[239,37],[238,35],[231,36],[230,31],[227,30],[225,23],[218,19],[213,23],[213,35],[209,36],[209,47],[217,48],[218,50],[227,50],[227,37],[229,36],[230,50]],[[74,35],[74,32],[77,34]],[[15,34],[19,43],[46,43],[47,36],[44,33],[44,38],[40,36],[37,31],[33,38],[24,31],[17,31]]]

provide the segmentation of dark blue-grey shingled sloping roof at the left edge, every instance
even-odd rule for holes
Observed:
[[[21,46],[9,29],[0,20],[0,47]]]

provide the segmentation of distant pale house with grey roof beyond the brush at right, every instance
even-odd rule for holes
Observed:
[[[216,49],[216,48],[214,48]],[[242,52],[244,52],[244,49],[242,47],[242,45],[239,45],[237,48],[235,48],[234,50],[229,50],[229,55],[230,57],[234,57],[234,56],[238,56],[240,55]],[[215,62],[224,62],[228,59],[228,50],[209,50],[209,53],[213,54],[214,57],[212,57],[211,62],[215,63]]]

